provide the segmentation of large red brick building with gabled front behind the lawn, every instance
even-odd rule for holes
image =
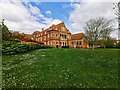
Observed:
[[[71,34],[63,22],[52,25],[46,30],[35,31],[31,40],[54,47],[89,48],[87,37],[83,33]]]

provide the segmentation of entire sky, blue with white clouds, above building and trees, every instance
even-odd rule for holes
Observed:
[[[84,32],[85,22],[90,19],[97,17],[115,19],[116,17],[113,10],[113,2],[116,0],[110,2],[105,2],[105,0],[79,0],[80,2],[2,1],[0,3],[0,19],[5,19],[5,24],[10,30],[29,34],[60,22],[64,22],[71,33],[79,33]],[[116,29],[118,27],[117,20],[114,20],[113,23]],[[111,36],[118,38],[118,31],[113,32]]]

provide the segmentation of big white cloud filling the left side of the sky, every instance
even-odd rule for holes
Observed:
[[[36,30],[61,22],[58,19],[45,17],[37,6],[33,6],[29,2],[24,4],[12,0],[7,3],[0,3],[0,20],[4,18],[5,24],[10,30],[33,33]],[[38,22],[39,19],[44,20],[44,23]]]

